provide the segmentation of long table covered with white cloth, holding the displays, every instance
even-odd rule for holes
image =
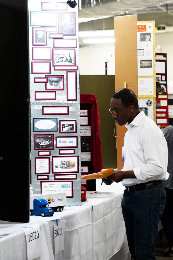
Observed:
[[[87,192],[87,200],[81,206],[64,207],[52,217],[30,216],[29,223],[0,221],[0,259],[27,260],[25,233],[21,228],[39,224],[42,260],[129,260],[122,196],[119,190]],[[54,256],[53,229],[58,219],[66,220],[64,250]]]

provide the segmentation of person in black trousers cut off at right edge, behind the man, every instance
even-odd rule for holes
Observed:
[[[168,125],[163,129],[163,134],[168,144],[168,168],[170,174],[167,181],[163,181],[166,190],[166,205],[161,216],[161,224],[165,231],[168,247],[162,252],[173,254],[173,125]]]

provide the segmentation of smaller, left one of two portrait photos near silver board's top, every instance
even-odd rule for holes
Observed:
[[[47,36],[45,28],[33,27],[33,45],[47,45]]]

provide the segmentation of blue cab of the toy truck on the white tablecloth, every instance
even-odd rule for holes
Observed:
[[[33,200],[33,210],[30,210],[30,215],[37,216],[53,216],[53,209],[49,207],[49,203],[43,198]]]

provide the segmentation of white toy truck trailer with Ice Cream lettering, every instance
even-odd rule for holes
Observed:
[[[30,215],[33,210],[33,200],[37,198],[45,199],[48,202],[49,207],[55,211],[63,211],[64,206],[66,205],[66,192],[56,192],[49,194],[33,194],[29,196],[29,209]]]

